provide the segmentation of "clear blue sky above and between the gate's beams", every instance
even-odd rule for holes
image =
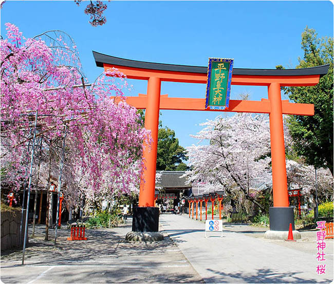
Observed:
[[[139,61],[207,66],[209,57],[234,58],[235,68],[294,68],[303,56],[301,33],[313,28],[333,36],[333,4],[329,1],[111,1],[107,23],[92,27],[74,1],[6,1],[1,34],[10,22],[25,37],[59,29],[75,40],[83,69],[93,81],[103,70],[91,51]],[[131,95],[146,93],[146,81],[129,80]],[[205,84],[162,83],[170,97],[205,98]],[[231,99],[249,92],[251,100],[267,98],[266,87],[232,85]],[[174,129],[180,145],[199,123],[219,113],[162,110],[163,126]]]

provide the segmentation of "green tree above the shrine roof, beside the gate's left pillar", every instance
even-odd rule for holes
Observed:
[[[168,128],[159,128],[157,171],[185,171],[187,165],[182,160],[188,160],[185,149],[175,138],[175,131]]]

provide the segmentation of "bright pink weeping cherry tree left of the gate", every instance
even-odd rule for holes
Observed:
[[[44,155],[39,168],[49,173],[48,182],[58,164],[51,170],[47,153],[61,145],[66,125],[64,179],[73,202],[79,187],[88,196],[136,191],[143,142],[150,143],[151,136],[137,110],[122,99],[125,76],[112,69],[88,83],[66,33],[48,31],[26,39],[15,25],[6,27],[1,40],[2,181],[22,188],[37,112],[36,138],[43,142],[35,153]],[[110,96],[119,97],[117,103]],[[60,160],[60,149],[54,160]]]

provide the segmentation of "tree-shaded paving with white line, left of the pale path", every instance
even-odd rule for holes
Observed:
[[[113,229],[86,230],[87,241],[67,241],[70,230],[58,230],[54,248],[44,241],[44,226],[22,251],[2,252],[4,283],[203,283],[187,258],[167,235],[161,242],[127,242],[132,219]]]

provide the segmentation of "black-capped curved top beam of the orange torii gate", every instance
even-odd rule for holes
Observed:
[[[122,59],[93,51],[96,66],[115,67],[129,79],[149,80],[158,77],[161,81],[207,83],[208,67],[151,63]],[[244,69],[233,68],[232,85],[269,86],[313,86],[327,74],[329,65],[300,69]]]

